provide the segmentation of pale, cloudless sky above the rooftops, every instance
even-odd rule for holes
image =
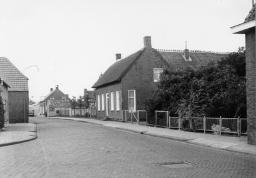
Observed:
[[[235,52],[252,0],[0,0],[0,57],[29,78],[29,99],[59,85],[77,98],[115,63],[143,48]],[[37,65],[36,67],[30,67]],[[24,70],[27,68],[26,70]]]

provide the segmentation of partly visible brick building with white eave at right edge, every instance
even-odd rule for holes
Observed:
[[[255,67],[255,4],[243,24],[231,27],[234,34],[245,34],[246,99],[248,144],[256,145],[256,67]]]

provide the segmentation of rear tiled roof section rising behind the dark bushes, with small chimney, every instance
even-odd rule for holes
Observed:
[[[200,68],[201,65],[206,65],[212,60],[218,61],[222,57],[226,57],[228,53],[207,52],[202,50],[189,50],[189,57],[192,61],[185,61],[182,50],[157,50],[161,56],[170,64],[171,68],[183,69],[191,67],[194,70]]]

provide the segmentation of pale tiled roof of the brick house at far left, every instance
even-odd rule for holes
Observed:
[[[8,91],[23,91],[25,78],[25,91],[28,91],[28,77],[23,75],[6,57],[0,57],[0,78],[10,85]]]

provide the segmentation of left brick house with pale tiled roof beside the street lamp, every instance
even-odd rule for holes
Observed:
[[[8,89],[10,123],[28,122],[28,78],[21,73],[6,57],[0,57],[0,78],[10,85],[10,89]]]

